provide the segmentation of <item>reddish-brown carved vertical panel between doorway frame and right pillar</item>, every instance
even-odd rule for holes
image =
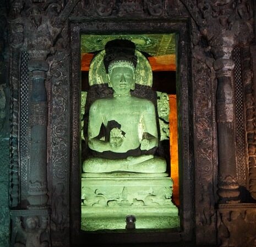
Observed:
[[[216,127],[214,123],[216,90],[215,73],[212,68],[213,59],[206,58],[204,50],[195,46],[193,53],[194,71],[194,142],[195,142],[195,206],[197,241],[209,242],[205,235],[215,240],[216,212]],[[210,96],[210,97],[209,97]],[[214,179],[213,179],[214,178]]]

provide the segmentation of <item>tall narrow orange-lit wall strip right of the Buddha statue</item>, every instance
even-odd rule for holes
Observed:
[[[173,180],[172,201],[179,205],[179,177],[178,177],[178,122],[176,95],[169,95],[170,115],[170,154],[171,154],[171,177]]]

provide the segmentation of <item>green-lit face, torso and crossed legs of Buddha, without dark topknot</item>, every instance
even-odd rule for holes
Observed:
[[[155,106],[150,100],[131,96],[134,88],[134,72],[126,62],[111,70],[109,87],[112,98],[96,100],[90,107],[88,139],[89,148],[100,153],[127,153],[140,148],[150,150],[157,147]],[[115,121],[120,127],[112,128],[109,141],[99,138],[101,126]],[[84,172],[153,172],[166,171],[166,161],[152,155],[127,156],[124,159],[90,158],[83,164]]]

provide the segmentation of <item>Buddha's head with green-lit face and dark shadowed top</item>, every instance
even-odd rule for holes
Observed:
[[[113,40],[106,44],[105,50],[104,64],[109,78],[108,86],[116,94],[129,93],[135,85],[135,44],[128,40]]]

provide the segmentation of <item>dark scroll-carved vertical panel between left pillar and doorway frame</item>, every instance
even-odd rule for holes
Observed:
[[[51,231],[56,246],[69,243],[69,104],[70,78],[68,66],[70,52],[67,28],[63,29],[55,47],[55,54],[48,57],[50,64],[48,85],[51,95]],[[61,237],[62,236],[62,237]]]

